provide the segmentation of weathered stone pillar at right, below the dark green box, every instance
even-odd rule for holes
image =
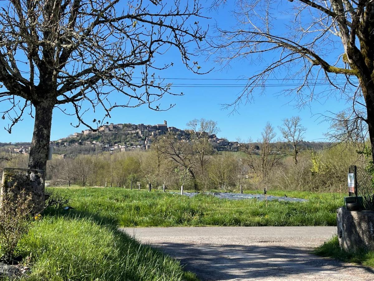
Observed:
[[[338,239],[344,251],[374,251],[374,211],[337,210]]]

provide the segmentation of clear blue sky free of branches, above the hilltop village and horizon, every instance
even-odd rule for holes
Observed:
[[[289,2],[288,2],[289,3]],[[211,12],[212,17],[209,24],[212,25],[215,19],[230,18],[230,6],[226,6],[218,12]],[[286,17],[285,17],[286,18]],[[230,20],[226,20],[224,25],[233,24]],[[164,78],[190,78],[192,80],[175,80],[168,79],[168,82],[176,84],[243,84],[245,81],[220,81],[220,80],[193,80],[197,79],[237,79],[241,76],[250,76],[255,73],[260,65],[249,65],[246,61],[237,61],[229,69],[221,70],[220,66],[212,61],[204,61],[205,58],[199,58],[199,65],[203,69],[215,69],[207,75],[196,75],[188,71],[181,63],[180,56],[175,52],[170,52],[167,59],[175,61],[175,65],[166,71],[159,73]],[[269,60],[272,57],[269,55]],[[278,136],[280,136],[278,126],[282,124],[282,120],[287,117],[299,115],[302,124],[307,128],[305,134],[306,141],[322,141],[324,133],[327,132],[329,124],[321,122],[322,118],[319,114],[327,114],[328,111],[338,112],[348,105],[343,100],[331,98],[329,100],[320,100],[311,103],[306,108],[296,108],[292,97],[279,96],[279,92],[285,88],[269,87],[266,94],[256,95],[253,103],[242,105],[237,113],[230,114],[232,109],[222,109],[222,104],[232,102],[236,95],[240,92],[240,87],[175,87],[175,92],[183,91],[184,96],[165,96],[161,104],[165,106],[176,104],[174,108],[166,112],[155,112],[142,106],[140,108],[115,109],[111,112],[112,118],[107,121],[110,123],[144,123],[144,124],[160,124],[163,120],[168,121],[169,126],[184,129],[186,123],[194,118],[205,118],[215,120],[220,127],[219,136],[225,137],[230,141],[236,138],[256,140],[260,137],[261,130],[269,121],[275,128]],[[324,88],[318,90],[323,91]],[[88,105],[87,105],[88,106]],[[5,109],[0,103],[0,111]],[[87,120],[93,118],[100,119],[102,111],[96,114],[89,112],[86,115]],[[25,115],[24,119],[16,124],[12,134],[8,134],[3,130],[0,142],[21,142],[31,141],[33,133],[34,120],[30,116]],[[56,140],[74,132],[86,129],[80,126],[76,129],[70,125],[76,124],[74,117],[63,114],[58,109],[53,112],[51,140]],[[0,128],[7,127],[7,120],[0,120]]]

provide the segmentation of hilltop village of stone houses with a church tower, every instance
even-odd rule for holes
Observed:
[[[181,130],[176,127],[169,127],[167,121],[163,124],[106,124],[97,131],[83,130],[74,133],[67,138],[52,142],[56,147],[68,147],[84,145],[95,147],[95,151],[128,151],[132,149],[150,149],[151,144],[157,136],[166,133],[174,133],[181,142],[190,141],[190,130]],[[227,139],[217,138],[216,135],[209,136],[209,142],[220,151],[237,151],[237,142],[229,142]]]

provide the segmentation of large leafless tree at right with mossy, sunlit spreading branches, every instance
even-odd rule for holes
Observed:
[[[225,2],[217,0],[214,6]],[[296,81],[286,93],[296,94],[301,105],[344,97],[354,113],[349,122],[367,124],[374,159],[374,1],[236,0],[235,4],[236,27],[218,27],[208,51],[223,65],[239,58],[252,63],[266,58],[266,62],[228,106],[250,101],[255,89],[264,90],[272,78],[288,84]],[[277,17],[287,11],[289,24],[283,24]]]

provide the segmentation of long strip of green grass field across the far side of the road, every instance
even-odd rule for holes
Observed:
[[[54,188],[71,198],[75,215],[89,215],[119,226],[334,226],[337,193],[286,192],[308,202],[227,200],[199,194],[193,198],[161,191],[123,188]],[[250,193],[249,191],[247,191]],[[253,191],[254,193],[255,191]],[[269,191],[283,196],[285,191]]]

